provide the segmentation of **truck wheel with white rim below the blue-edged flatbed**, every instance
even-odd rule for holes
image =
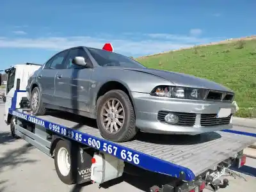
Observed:
[[[58,141],[54,151],[54,164],[58,177],[65,184],[74,184],[76,177],[76,156],[77,150],[69,143]]]

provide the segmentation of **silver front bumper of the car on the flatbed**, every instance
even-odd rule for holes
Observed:
[[[236,112],[236,106],[232,103],[154,97],[137,92],[130,94],[136,113],[136,126],[143,132],[196,135],[232,128],[232,115]],[[216,118],[220,108],[231,108],[231,115]],[[174,125],[164,122],[164,116],[168,113],[179,116],[179,122]]]

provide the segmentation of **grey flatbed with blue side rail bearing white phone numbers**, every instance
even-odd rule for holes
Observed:
[[[56,135],[77,141],[138,166],[143,170],[161,173],[193,182],[218,170],[221,163],[236,160],[239,152],[255,143],[255,135],[232,131],[208,132],[197,136],[159,135],[140,133],[135,140],[114,143],[100,135],[90,118],[52,111],[49,115],[33,116],[29,109],[9,109],[9,114],[35,124],[37,129],[48,129]],[[16,134],[51,156],[52,141],[44,140],[15,125]],[[39,128],[41,127],[41,128]],[[227,163],[227,167],[231,162]]]

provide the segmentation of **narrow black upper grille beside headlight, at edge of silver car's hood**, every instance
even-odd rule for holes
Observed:
[[[205,100],[215,100],[221,102],[232,102],[234,98],[234,94],[227,92],[215,92],[210,90],[207,94]]]

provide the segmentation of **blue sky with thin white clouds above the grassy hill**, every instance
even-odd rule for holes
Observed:
[[[3,0],[1,68],[44,63],[76,45],[143,56],[256,35],[255,0]]]

